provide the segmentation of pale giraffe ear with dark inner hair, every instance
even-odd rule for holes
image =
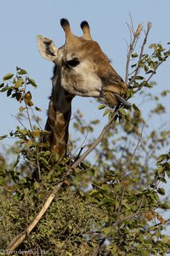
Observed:
[[[58,56],[58,48],[54,46],[51,39],[44,38],[40,35],[37,36],[37,48],[43,58],[48,61],[54,61]]]

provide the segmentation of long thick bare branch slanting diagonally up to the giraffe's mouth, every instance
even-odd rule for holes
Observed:
[[[48,199],[45,201],[42,209],[40,212],[37,213],[36,218],[29,224],[26,228],[26,230],[22,231],[18,236],[15,236],[14,239],[9,243],[7,247],[8,252],[14,251],[17,247],[20,246],[20,243],[24,241],[26,236],[28,236],[31,233],[31,230],[35,228],[37,223],[40,221],[40,219],[43,217],[44,213],[47,212],[48,207],[51,205],[52,201],[54,201],[55,195],[59,192],[59,189],[62,187],[63,183],[65,183],[65,179],[73,172],[73,168],[77,167],[82,160],[84,160],[88,154],[90,154],[94,148],[97,147],[97,145],[101,142],[103,137],[105,136],[105,133],[109,130],[111,127],[112,122],[116,119],[116,113],[118,111],[119,107],[117,107],[114,111],[114,114],[112,118],[109,120],[109,122],[105,125],[104,129],[101,131],[99,137],[97,140],[88,148],[88,150],[82,154],[82,156],[68,169],[68,171],[65,173],[65,175],[62,177],[61,181],[54,186],[53,192],[48,196]]]

